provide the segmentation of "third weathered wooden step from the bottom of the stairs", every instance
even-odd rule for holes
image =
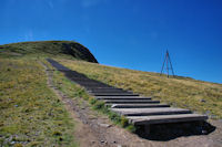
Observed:
[[[111,108],[151,108],[170,107],[168,104],[108,104]]]

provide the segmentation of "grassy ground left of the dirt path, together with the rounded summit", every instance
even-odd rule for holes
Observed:
[[[98,63],[71,41],[0,45],[0,146],[77,146],[74,123],[47,85],[44,57]]]

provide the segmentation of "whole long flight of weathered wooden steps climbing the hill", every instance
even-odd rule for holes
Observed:
[[[140,96],[122,88],[117,88],[99,81],[88,78],[85,75],[71,71],[58,62],[48,59],[52,66],[63,72],[68,78],[83,86],[89,94],[103,101],[111,111],[125,116],[134,125],[165,124],[205,120],[206,115],[193,114],[189,109],[170,107],[153,101],[151,97]]]

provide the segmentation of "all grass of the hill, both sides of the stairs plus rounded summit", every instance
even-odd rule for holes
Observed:
[[[77,42],[21,42],[0,45],[0,146],[77,146],[74,123],[47,85],[40,64],[46,57],[107,84],[222,118],[222,84],[100,65]]]

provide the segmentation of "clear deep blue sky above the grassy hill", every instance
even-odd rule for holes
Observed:
[[[222,83],[221,0],[0,0],[0,44],[74,40],[101,64]]]

